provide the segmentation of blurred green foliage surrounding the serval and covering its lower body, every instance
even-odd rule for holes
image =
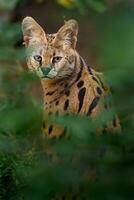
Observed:
[[[27,1],[0,0],[1,11],[14,11]],[[44,1],[35,1],[44,3]],[[39,80],[22,69],[24,49],[20,23],[0,24],[0,199],[128,200],[134,188],[134,7],[120,1],[57,0],[79,18],[94,16],[98,63],[114,88],[121,134],[97,136],[96,123],[86,117],[51,116],[66,125],[72,137],[45,140],[41,134],[42,101],[31,85]],[[126,6],[127,5],[127,6]],[[90,10],[90,11],[89,11]],[[97,14],[96,14],[97,13]],[[96,181],[95,181],[96,179]],[[79,198],[76,196],[79,191]]]

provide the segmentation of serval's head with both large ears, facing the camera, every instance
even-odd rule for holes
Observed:
[[[25,17],[22,31],[30,71],[36,72],[41,79],[70,77],[76,65],[76,20],[66,21],[55,34],[46,34],[32,17]]]

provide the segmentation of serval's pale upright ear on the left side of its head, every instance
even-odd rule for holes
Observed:
[[[29,46],[38,42],[47,43],[46,34],[41,26],[32,18],[25,17],[22,21],[24,44]]]

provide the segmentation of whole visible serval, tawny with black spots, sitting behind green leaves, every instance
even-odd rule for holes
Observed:
[[[31,17],[22,23],[30,71],[40,77],[44,93],[43,131],[48,137],[64,135],[66,130],[50,124],[48,115],[78,114],[95,119],[110,106],[104,101],[110,95],[103,74],[88,67],[76,51],[78,23],[69,20],[56,34],[46,34]],[[118,131],[117,116],[101,132]]]

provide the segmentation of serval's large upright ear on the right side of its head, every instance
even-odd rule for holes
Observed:
[[[71,19],[66,21],[65,24],[58,30],[54,39],[56,47],[72,47],[75,49],[78,34],[78,23],[76,20]]]

